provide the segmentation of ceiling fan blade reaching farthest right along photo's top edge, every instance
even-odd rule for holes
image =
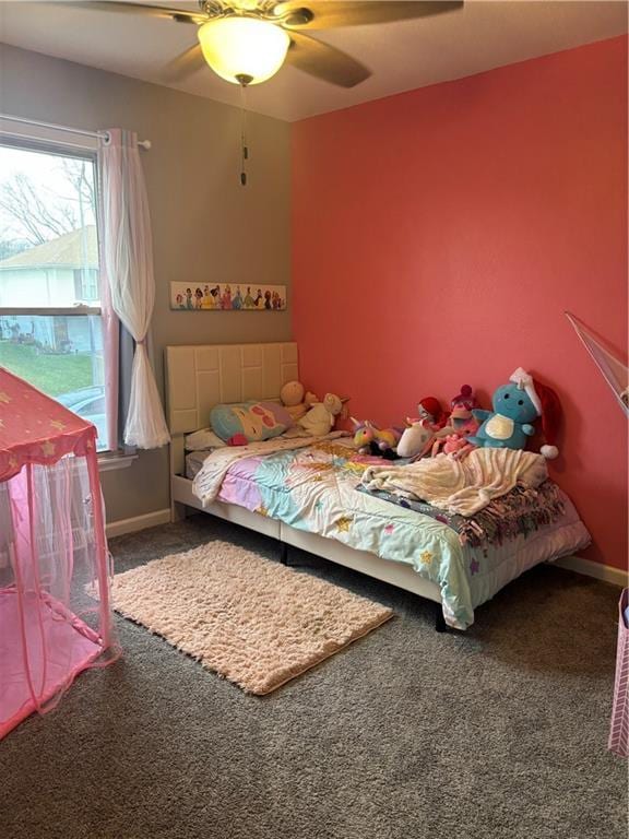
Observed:
[[[281,17],[286,15],[286,28],[293,32],[430,17],[462,7],[463,0],[286,0],[275,7],[274,13]]]

